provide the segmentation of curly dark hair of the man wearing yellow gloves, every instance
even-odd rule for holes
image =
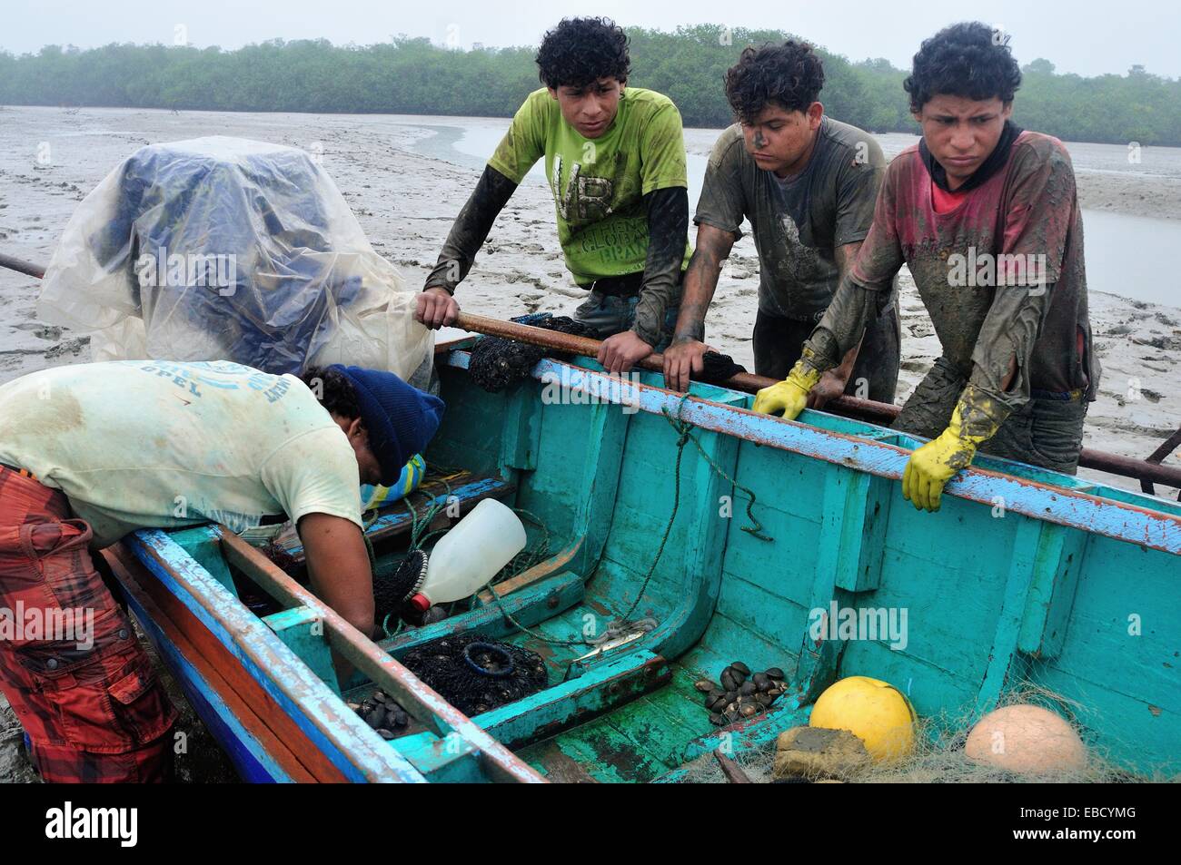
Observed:
[[[922,111],[939,94],[1011,103],[1022,85],[1022,70],[1007,42],[1006,34],[980,21],[953,24],[924,39],[911,77],[902,83],[911,94],[911,111]]]

